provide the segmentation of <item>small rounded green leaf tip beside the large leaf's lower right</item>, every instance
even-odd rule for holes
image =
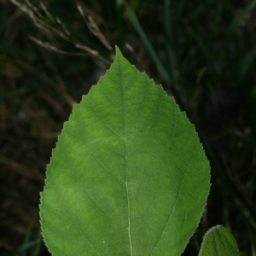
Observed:
[[[201,244],[199,256],[239,256],[234,236],[222,225],[208,230]]]

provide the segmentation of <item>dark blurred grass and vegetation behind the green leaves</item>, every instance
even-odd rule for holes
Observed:
[[[211,162],[206,211],[183,255],[223,224],[241,255],[256,256],[256,1],[32,1],[37,18],[20,3],[25,12],[0,1],[0,255],[49,255],[38,220],[46,165],[117,44],[187,112]]]

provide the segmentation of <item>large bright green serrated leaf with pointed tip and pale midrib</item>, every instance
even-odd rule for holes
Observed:
[[[119,49],[65,123],[41,195],[53,255],[179,255],[210,188],[194,125]]]

